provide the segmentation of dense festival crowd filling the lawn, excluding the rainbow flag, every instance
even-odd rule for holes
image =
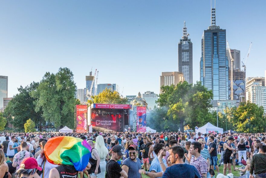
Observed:
[[[57,136],[80,138],[91,146],[83,171],[47,161],[45,145]],[[0,143],[0,178],[214,178],[232,169],[242,177],[266,177],[264,133],[1,133]]]

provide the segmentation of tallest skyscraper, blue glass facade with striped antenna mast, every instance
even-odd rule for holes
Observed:
[[[201,40],[200,81],[213,91],[213,100],[228,100],[226,30],[216,26],[215,7],[211,8],[211,26]]]

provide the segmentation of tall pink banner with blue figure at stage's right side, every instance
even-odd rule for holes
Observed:
[[[146,132],[146,106],[137,106],[137,132]]]

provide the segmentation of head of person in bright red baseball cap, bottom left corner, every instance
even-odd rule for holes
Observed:
[[[16,177],[40,178],[40,176],[37,174],[37,170],[41,171],[42,168],[38,166],[36,159],[33,157],[28,157],[21,162],[20,168],[16,172]]]

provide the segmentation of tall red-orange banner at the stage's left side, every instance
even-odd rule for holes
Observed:
[[[76,105],[76,132],[87,132],[87,105]]]

